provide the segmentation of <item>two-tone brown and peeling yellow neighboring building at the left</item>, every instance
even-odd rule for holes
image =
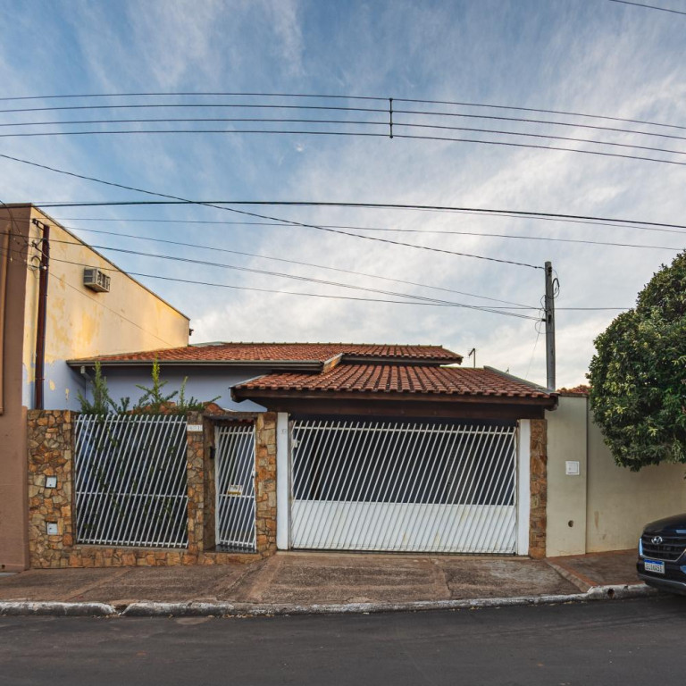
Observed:
[[[0,207],[0,571],[28,560],[26,411],[87,387],[66,360],[186,344],[186,315],[38,207]]]

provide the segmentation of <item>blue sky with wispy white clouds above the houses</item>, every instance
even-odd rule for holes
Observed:
[[[686,11],[682,0],[650,4]],[[433,205],[686,224],[686,15],[610,0],[0,0],[0,21],[6,28],[0,42],[3,98],[290,94],[4,99],[0,155],[193,200]],[[349,135],[388,134],[385,98],[390,97],[396,110],[394,138]],[[213,106],[189,106],[200,103]],[[151,104],[166,106],[112,106]],[[6,112],[87,105],[101,109]],[[302,105],[356,109],[305,110]],[[255,117],[347,123],[112,123],[131,118]],[[86,120],[108,123],[64,123]],[[46,121],[58,123],[38,123]],[[462,130],[411,128],[408,123]],[[142,132],[151,129],[196,132]],[[328,134],[226,132],[241,129]],[[99,133],[16,136],[75,130]],[[105,132],[113,130],[138,132]],[[481,142],[402,138],[404,134]],[[585,140],[537,138],[542,136]],[[661,162],[483,141],[577,148]],[[0,201],[5,203],[150,199],[155,197],[0,158]],[[267,222],[232,211],[236,209],[285,222]],[[476,348],[478,366],[494,366],[540,383],[546,380],[545,336],[537,309],[545,285],[540,267],[550,261],[559,281],[558,387],[585,381],[593,339],[620,311],[566,308],[631,307],[652,274],[686,247],[683,229],[590,226],[446,211],[104,205],[52,207],[46,212],[122,269],[148,274],[139,280],[191,318],[191,342],[441,344],[462,353],[464,364],[473,364],[467,354]],[[313,226],[356,227],[343,230],[433,249]],[[579,240],[596,243],[568,242]],[[431,305],[415,297],[471,306]],[[522,305],[530,309],[521,309]]]

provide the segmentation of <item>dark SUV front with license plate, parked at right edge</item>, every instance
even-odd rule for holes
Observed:
[[[650,523],[639,541],[639,578],[649,586],[686,595],[686,514]]]

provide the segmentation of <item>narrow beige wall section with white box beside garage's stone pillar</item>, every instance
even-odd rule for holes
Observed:
[[[560,397],[548,418],[548,556],[586,552],[585,397]],[[565,473],[567,461],[578,462],[579,476]]]

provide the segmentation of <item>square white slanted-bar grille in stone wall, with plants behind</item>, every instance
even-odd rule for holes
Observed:
[[[76,541],[186,548],[186,417],[79,414]]]

